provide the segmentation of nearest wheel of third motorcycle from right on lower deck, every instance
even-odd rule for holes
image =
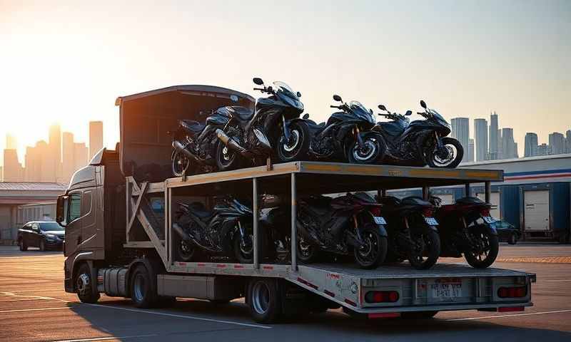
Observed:
[[[361,233],[363,246],[353,249],[355,261],[362,269],[374,269],[387,257],[388,242],[381,237],[376,227],[367,227]]]

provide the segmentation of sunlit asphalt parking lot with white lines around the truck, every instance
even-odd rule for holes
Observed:
[[[571,246],[502,244],[496,267],[537,274],[524,312],[441,312],[432,320],[355,321],[340,310],[263,326],[242,301],[179,299],[136,309],[128,299],[81,304],[63,289],[61,252],[0,247],[1,341],[571,341]],[[445,259],[443,262],[453,261]],[[461,261],[458,259],[458,261]],[[388,340],[387,340],[388,338]]]

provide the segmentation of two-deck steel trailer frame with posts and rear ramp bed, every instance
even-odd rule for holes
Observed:
[[[291,197],[291,264],[261,263],[258,227],[258,192],[260,180],[273,177],[282,185],[290,185]],[[329,182],[316,182],[327,178]],[[216,186],[221,182],[251,180],[253,197],[253,264],[234,264],[221,262],[183,262],[176,261],[173,255],[172,232],[172,198],[173,190],[181,187],[197,185]],[[165,269],[173,274],[226,275],[226,276],[263,276],[286,279],[293,284],[323,296],[349,309],[366,314],[426,311],[426,310],[462,310],[462,309],[497,309],[498,307],[531,306],[530,291],[527,296],[517,302],[505,302],[497,297],[495,289],[501,284],[516,281],[530,289],[535,282],[535,274],[505,269],[473,269],[458,264],[438,264],[433,269],[418,271],[408,266],[380,266],[375,270],[355,269],[355,266],[309,264],[298,265],[296,259],[297,229],[295,212],[299,187],[309,192],[334,193],[343,191],[377,190],[379,195],[385,190],[422,187],[423,197],[428,198],[429,188],[445,185],[465,185],[469,190],[470,183],[485,184],[485,199],[490,200],[490,182],[503,180],[501,170],[474,169],[433,169],[426,167],[400,167],[392,165],[354,165],[335,162],[288,162],[260,167],[248,167],[241,170],[216,172],[188,177],[168,178],[164,182],[138,185],[133,177],[127,177],[127,248],[153,248],[161,257]],[[323,184],[327,183],[327,184]],[[159,239],[156,228],[152,227],[146,214],[141,209],[143,196],[149,193],[163,193],[164,196],[164,239]],[[469,193],[469,192],[468,192]],[[149,241],[133,241],[130,231],[133,222],[138,219],[148,234]],[[470,289],[470,303],[429,305],[428,294],[419,293],[423,284],[442,277],[458,277]],[[397,281],[398,279],[398,284]],[[509,281],[507,280],[509,279]],[[515,280],[514,280],[515,279]],[[380,284],[393,284],[399,287],[408,297],[393,306],[368,307],[363,304],[363,289]],[[420,286],[420,287],[419,287]],[[464,286],[464,285],[463,285]],[[488,302],[486,302],[488,300]],[[490,300],[492,302],[490,302]],[[423,306],[423,304],[426,304]]]

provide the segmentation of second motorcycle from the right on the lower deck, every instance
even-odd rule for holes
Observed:
[[[388,261],[408,259],[415,269],[430,269],[440,256],[433,205],[420,197],[380,197],[388,226]]]

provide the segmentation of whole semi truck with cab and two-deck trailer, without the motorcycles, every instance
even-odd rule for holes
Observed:
[[[170,177],[168,130],[222,105],[253,106],[250,96],[226,88],[176,86],[118,98],[121,141],[78,170],[58,198],[57,221],[66,226],[67,292],[94,303],[100,294],[131,298],[141,308],[172,305],[176,297],[223,304],[245,298],[252,318],[273,323],[285,316],[343,308],[361,318],[429,318],[438,311],[523,311],[532,306],[535,274],[473,269],[440,263],[417,270],[408,264],[358,269],[343,259],[300,264],[296,258],[298,197],[340,192],[421,188],[491,182],[501,170],[431,169],[339,162],[288,162],[227,172]],[[197,118],[198,119],[198,118]],[[183,261],[173,230],[184,202],[213,204],[213,197],[251,198],[253,262],[227,257]],[[288,198],[290,253],[281,261],[261,247],[261,195]]]

